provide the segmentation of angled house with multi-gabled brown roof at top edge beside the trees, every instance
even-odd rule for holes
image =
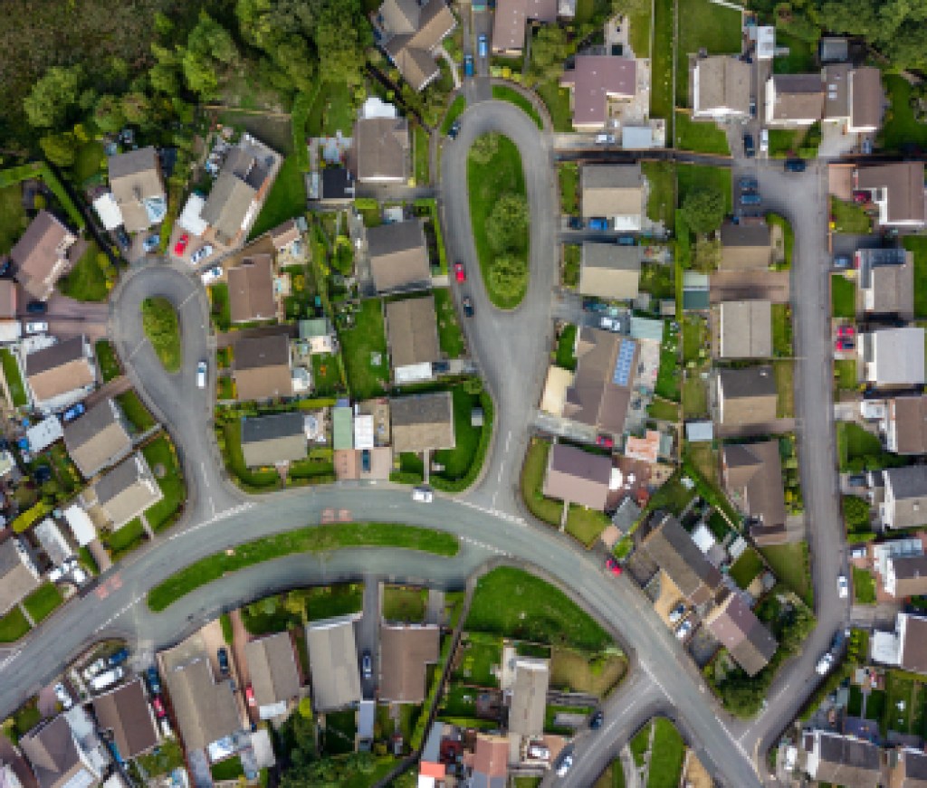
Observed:
[[[445,0],[386,0],[374,18],[377,43],[414,91],[438,79],[435,51],[455,27]]]

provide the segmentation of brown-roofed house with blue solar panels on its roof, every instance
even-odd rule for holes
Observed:
[[[612,331],[581,328],[577,369],[566,389],[563,417],[619,435],[628,415],[639,344]]]

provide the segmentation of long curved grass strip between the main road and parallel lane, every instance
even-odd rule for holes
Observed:
[[[388,522],[312,525],[239,544],[228,553],[215,553],[201,558],[151,589],[147,597],[148,607],[160,612],[200,586],[264,561],[296,553],[324,553],[345,547],[394,547],[437,556],[455,556],[460,543],[451,533]]]

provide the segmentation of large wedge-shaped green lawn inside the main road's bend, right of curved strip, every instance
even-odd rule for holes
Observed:
[[[612,643],[565,594],[512,567],[493,569],[479,579],[466,628],[583,651],[601,651]]]

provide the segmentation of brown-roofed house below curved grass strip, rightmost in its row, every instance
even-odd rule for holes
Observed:
[[[378,699],[388,703],[423,703],[428,666],[436,665],[441,633],[434,624],[380,626]]]

